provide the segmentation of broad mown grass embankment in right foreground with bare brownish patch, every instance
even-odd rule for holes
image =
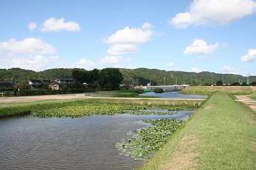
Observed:
[[[139,169],[256,169],[256,120],[217,92]]]

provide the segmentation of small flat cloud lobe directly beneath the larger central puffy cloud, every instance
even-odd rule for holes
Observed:
[[[136,45],[131,44],[117,44],[111,45],[108,49],[108,53],[111,55],[124,55],[127,53],[134,53],[138,50]]]

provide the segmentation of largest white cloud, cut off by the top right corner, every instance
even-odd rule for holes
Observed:
[[[251,15],[256,11],[253,0],[194,0],[188,10],[177,13],[168,22],[184,29],[195,25],[223,25]]]

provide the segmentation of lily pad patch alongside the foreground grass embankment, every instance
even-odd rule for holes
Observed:
[[[144,120],[154,126],[134,131],[131,139],[123,139],[116,144],[118,150],[122,150],[122,155],[131,156],[136,160],[148,160],[153,153],[161,150],[172,135],[180,129],[180,120]]]

